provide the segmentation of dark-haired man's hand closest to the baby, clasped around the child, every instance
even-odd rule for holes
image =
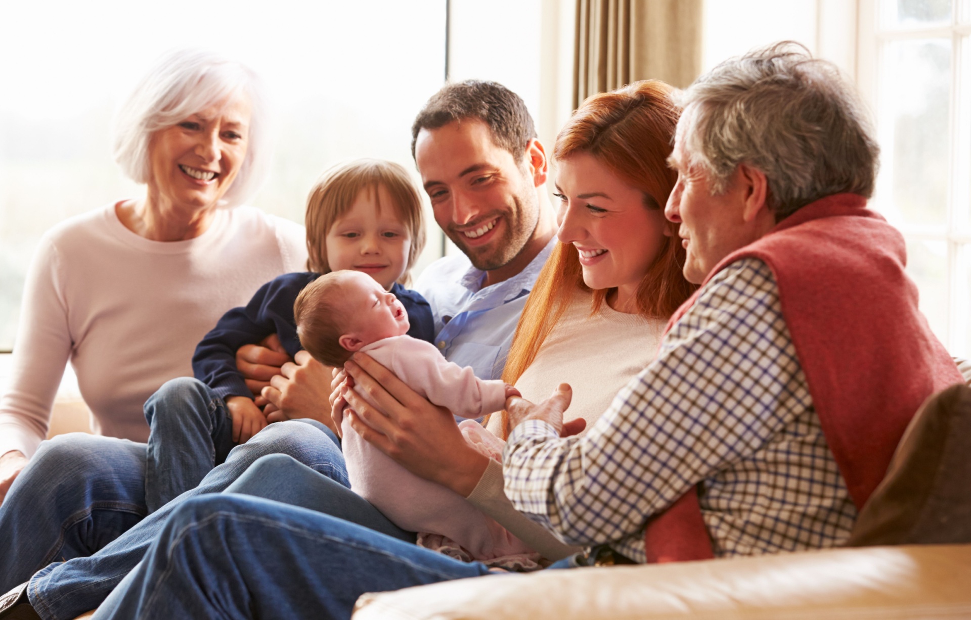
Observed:
[[[327,404],[330,399],[331,369],[307,351],[298,351],[294,361],[286,362],[281,374],[270,379],[261,394],[275,410],[266,416],[269,422],[307,417],[318,420],[334,431]],[[336,431],[335,431],[336,432]]]

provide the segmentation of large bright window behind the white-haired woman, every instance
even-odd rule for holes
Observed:
[[[23,278],[41,235],[71,215],[141,194],[112,161],[111,120],[161,53],[215,49],[263,77],[277,147],[252,204],[302,221],[308,191],[335,163],[381,157],[415,170],[411,124],[442,85],[445,24],[445,0],[5,3],[0,351],[14,343]],[[420,265],[441,244],[428,249]]]

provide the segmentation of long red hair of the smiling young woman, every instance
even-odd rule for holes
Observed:
[[[649,80],[588,97],[556,136],[553,158],[563,160],[581,152],[592,155],[644,192],[645,209],[663,209],[677,180],[667,165],[679,116],[671,91],[670,85]],[[639,313],[652,318],[671,316],[696,288],[682,274],[685,249],[677,226],[667,222],[666,232],[669,236],[637,289]],[[584,284],[577,248],[557,244],[522,310],[503,380],[519,380],[578,289],[590,290]],[[593,291],[592,311],[600,308],[609,292]],[[502,436],[508,438],[510,431],[503,411]]]

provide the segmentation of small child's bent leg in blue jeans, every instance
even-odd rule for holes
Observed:
[[[235,445],[225,401],[188,376],[158,388],[145,403],[145,419],[151,429],[145,459],[149,512],[198,486]]]

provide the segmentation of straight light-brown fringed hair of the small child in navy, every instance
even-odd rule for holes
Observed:
[[[384,187],[391,197],[391,205],[381,204],[378,187]],[[421,197],[415,184],[402,166],[382,159],[357,159],[335,166],[325,172],[307,197],[307,268],[318,274],[330,273],[327,264],[327,232],[341,217],[351,211],[362,190],[373,193],[381,209],[393,209],[412,237],[411,251],[405,273],[398,278],[407,285],[412,267],[424,247],[424,224],[421,217]]]

